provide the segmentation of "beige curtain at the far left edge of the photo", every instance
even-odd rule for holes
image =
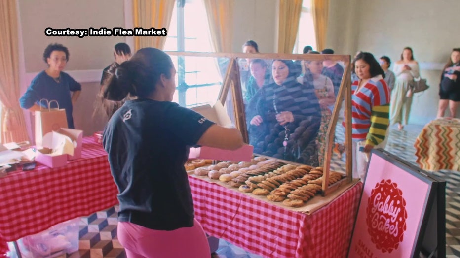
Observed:
[[[29,140],[19,106],[18,24],[15,0],[0,0],[1,142]]]

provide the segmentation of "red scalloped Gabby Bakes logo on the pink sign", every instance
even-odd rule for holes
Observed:
[[[383,253],[391,253],[402,242],[406,231],[406,200],[391,180],[377,183],[367,202],[368,232],[371,241]]]

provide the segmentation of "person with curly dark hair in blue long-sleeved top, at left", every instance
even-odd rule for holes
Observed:
[[[40,99],[56,100],[59,108],[66,110],[68,127],[75,128],[72,109],[80,96],[81,85],[63,72],[69,61],[69,50],[61,44],[49,44],[43,52],[43,61],[48,64],[48,68],[35,76],[19,103],[22,108],[34,112],[40,110]],[[56,107],[56,103],[52,102],[51,108]]]

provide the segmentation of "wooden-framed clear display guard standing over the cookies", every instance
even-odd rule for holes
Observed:
[[[351,110],[349,55],[191,52],[168,52],[168,54],[171,55],[178,70],[179,97],[186,96],[187,90],[192,89],[188,85],[187,79],[184,79],[187,76],[190,78],[190,73],[183,72],[186,70],[184,69],[185,66],[196,67],[195,77],[220,77],[219,93],[213,95],[212,91],[204,91],[203,96],[200,97],[204,98],[204,95],[206,95],[207,99],[209,99],[207,103],[212,104],[213,101],[219,101],[224,105],[232,124],[241,131],[245,142],[254,145],[254,154],[256,156],[269,157],[297,165],[321,166],[324,171],[323,195],[327,195],[352,181],[351,113],[347,112]],[[337,94],[334,93],[333,98],[330,96],[330,90],[326,92],[322,90],[330,87],[332,81],[325,76],[317,76],[314,72],[314,69],[316,71],[320,69],[324,61],[337,62],[344,70],[341,76],[340,88],[337,87],[338,89],[335,90]],[[211,67],[212,64],[215,66]],[[273,64],[276,67],[273,68]],[[289,70],[284,81],[282,81],[283,74],[281,71],[283,64]],[[262,83],[261,73],[264,76]],[[192,79],[189,81],[192,81]],[[206,87],[208,84],[204,81],[201,85]],[[255,97],[250,97],[251,86],[254,88],[259,84],[262,84],[259,89],[263,90],[252,89]],[[322,84],[324,84],[324,87],[322,87]],[[294,88],[296,90],[293,90]],[[280,96],[278,97],[277,94]],[[307,112],[306,110],[309,109],[314,109],[315,111]],[[257,113],[257,110],[262,110],[261,112],[267,111],[267,114],[261,115],[266,119],[261,124],[267,121],[267,128],[264,130],[257,130],[257,126],[250,122],[252,120],[250,117]],[[274,122],[273,119],[278,119],[279,114],[283,112],[290,112],[292,117],[287,115],[285,121]],[[339,119],[341,114],[345,114],[343,119]],[[341,120],[345,125],[345,133],[341,133],[339,136],[337,129],[342,126],[339,124],[339,122],[342,122]],[[269,124],[269,121],[272,123]],[[286,121],[289,122],[281,125]],[[310,129],[309,127],[313,124],[316,125],[316,130],[311,129],[312,132],[307,133],[307,129]],[[273,128],[268,128],[268,125],[273,125]],[[319,132],[320,129],[321,132]],[[260,133],[260,135],[254,137],[256,134],[254,132]],[[296,134],[297,132],[300,133]],[[270,136],[269,133],[272,135]],[[305,135],[314,136],[301,138],[301,136]],[[284,140],[273,138],[272,136],[281,137]],[[261,140],[262,138],[264,140]],[[257,142],[254,139],[259,139],[260,141]],[[264,141],[266,142],[264,143]],[[272,144],[270,145],[270,143]],[[332,185],[328,185],[331,161],[338,159],[333,152],[333,147],[336,143],[343,143],[345,146],[346,165],[345,168],[338,171],[344,174],[344,178]],[[307,147],[311,147],[314,151],[312,152]],[[272,155],[270,155],[270,150]],[[276,153],[273,150],[276,150]],[[322,153],[324,158],[316,157],[318,153]]]

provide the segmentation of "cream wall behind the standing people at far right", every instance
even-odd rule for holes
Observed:
[[[409,123],[424,125],[436,117],[440,69],[452,48],[460,47],[459,10],[459,0],[331,0],[328,46],[392,61],[412,47],[431,88],[414,96]]]

